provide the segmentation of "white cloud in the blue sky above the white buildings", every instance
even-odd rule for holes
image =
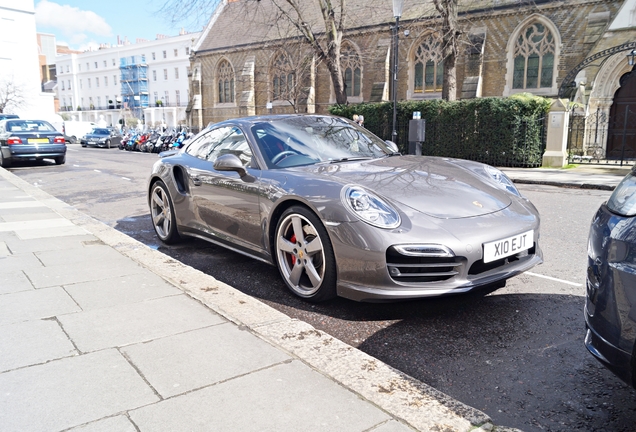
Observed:
[[[59,29],[71,40],[85,40],[86,33],[111,36],[111,27],[95,12],[42,0],[35,6],[35,22],[39,27]]]

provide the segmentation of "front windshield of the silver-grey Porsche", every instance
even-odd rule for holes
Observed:
[[[375,159],[392,151],[378,137],[345,119],[293,116],[252,126],[269,168]]]

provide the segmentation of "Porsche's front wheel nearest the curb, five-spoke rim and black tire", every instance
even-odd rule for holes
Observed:
[[[336,260],[318,216],[306,207],[288,208],[278,221],[274,242],[276,265],[294,294],[311,302],[336,297]]]

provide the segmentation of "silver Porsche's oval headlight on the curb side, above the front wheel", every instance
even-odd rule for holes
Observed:
[[[396,228],[400,215],[386,201],[361,186],[347,186],[342,190],[342,201],[353,214],[378,228]]]

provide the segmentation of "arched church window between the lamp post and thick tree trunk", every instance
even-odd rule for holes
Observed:
[[[435,35],[426,37],[415,50],[413,61],[413,91],[415,93],[442,91],[444,62],[441,41]]]

